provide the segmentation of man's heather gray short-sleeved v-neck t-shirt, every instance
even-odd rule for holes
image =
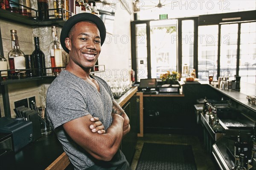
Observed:
[[[98,82],[100,92],[82,78],[63,70],[52,81],[47,91],[46,113],[48,120],[54,127],[54,131],[75,169],[86,169],[94,165],[97,160],[67,135],[62,124],[89,114],[98,117],[105,129],[108,129],[112,122],[111,112],[114,98],[111,88],[102,78],[97,76],[93,76],[93,78]],[[92,139],[88,138],[88,141],[85,142],[91,141]]]

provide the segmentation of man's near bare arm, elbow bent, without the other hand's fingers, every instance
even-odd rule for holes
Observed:
[[[67,134],[91,156],[98,160],[110,161],[116,154],[122,141],[123,123],[122,116],[113,114],[113,121],[106,133],[93,133],[89,128],[91,115],[74,119],[63,124]]]

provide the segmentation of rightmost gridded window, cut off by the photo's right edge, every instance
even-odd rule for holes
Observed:
[[[239,76],[241,81],[256,82],[256,22],[241,23]]]

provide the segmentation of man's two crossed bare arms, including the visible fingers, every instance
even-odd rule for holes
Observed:
[[[64,130],[91,156],[98,160],[110,161],[119,149],[122,137],[130,131],[129,118],[116,101],[113,101],[112,110],[113,121],[107,130],[99,119],[93,118],[92,115],[63,124]]]

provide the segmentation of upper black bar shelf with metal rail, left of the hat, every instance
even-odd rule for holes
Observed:
[[[27,26],[63,26],[64,23],[67,21],[68,17],[71,16],[71,12],[63,9],[63,8],[57,8],[57,9],[47,9],[47,10],[36,10],[32,9],[28,6],[22,5],[20,3],[16,3],[12,0],[0,0],[15,4],[16,6],[20,6],[26,9],[31,10],[31,15],[24,15],[20,12],[11,12],[10,9],[3,9],[3,7],[0,9],[0,19],[25,24]],[[51,11],[58,11],[59,16],[55,17],[55,12]],[[42,17],[41,14],[45,14],[46,16]],[[49,15],[49,13],[53,13],[52,15]]]

